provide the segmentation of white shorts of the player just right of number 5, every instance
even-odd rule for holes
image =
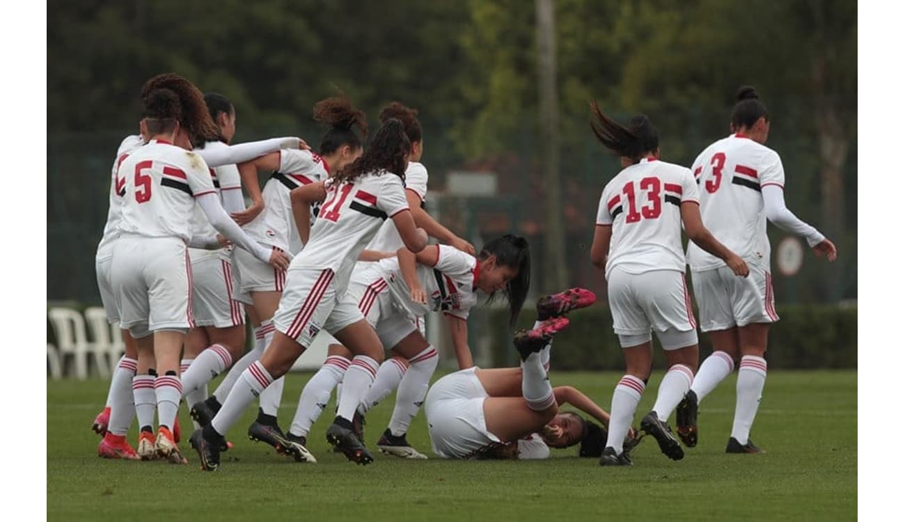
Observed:
[[[226,252],[188,249],[192,262],[192,314],[197,327],[245,324],[242,304],[233,300],[233,265]]]

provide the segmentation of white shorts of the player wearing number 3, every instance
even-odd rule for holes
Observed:
[[[694,297],[698,300],[700,331],[779,320],[770,271],[751,264],[748,267],[747,278],[736,276],[729,267],[691,273]]]

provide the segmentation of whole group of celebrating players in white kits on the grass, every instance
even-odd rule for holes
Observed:
[[[601,465],[631,465],[652,330],[669,367],[641,432],[681,459],[667,424],[672,411],[679,439],[693,447],[700,400],[738,362],[726,451],[761,451],[749,432],[767,376],[768,327],[778,319],[767,219],[831,261],[835,247],[786,209],[782,163],[764,145],[767,108],[753,89],[739,91],[732,134],[707,147],[691,169],[659,159],[657,131],[646,117],[624,126],[592,104],[595,137],[624,167],[605,185],[590,252],[605,269],[625,356],[610,413],[548,380],[552,338],[568,326],[567,312],[595,303],[589,290],[538,299],[536,323],[513,337],[519,367],[473,364],[469,310],[502,297],[514,325],[529,293],[529,244],[506,234],[476,251],[424,211],[428,176],[419,163],[417,110],[389,104],[368,141],[366,116],[350,100],[321,100],[313,117],[326,132],[315,152],[294,137],[231,144],[232,103],[176,74],[151,78],[140,98],[139,135],[117,152],[96,257],[104,308],[126,342],[107,406],[93,424],[103,435],[101,457],[186,463],[176,421],[185,400],[196,424],[189,443],[202,469],[217,470],[232,447],[227,432],[257,398],[249,437],[315,462],[306,447],[310,428],[336,388],[326,437],[359,464],[374,460],[363,437],[365,415],[395,391],[392,418],[376,444],[389,455],[427,458],[406,440],[424,404],[433,452],[443,458],[542,459],[551,447],[580,444],[579,454],[599,457]],[[259,171],[271,173],[263,188]],[[439,244],[428,244],[429,237]],[[686,261],[701,331],[714,345],[700,369]],[[438,361],[424,336],[432,311],[446,318],[460,370],[429,386]],[[255,337],[248,353],[246,314]],[[283,432],[282,377],[319,335],[332,336],[328,356]],[[207,384],[224,372],[208,394]],[[560,413],[565,403],[599,424]],[[135,417],[133,448],[126,435]]]

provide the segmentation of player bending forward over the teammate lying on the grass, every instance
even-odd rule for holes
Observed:
[[[397,376],[395,381],[381,380],[382,370],[377,372],[374,384],[357,407],[357,425],[364,422],[368,410],[399,385],[393,416],[377,448],[397,457],[426,459],[405,439],[414,415],[424,402],[438,360],[436,349],[418,330],[416,319],[424,318],[428,311],[443,311],[456,358],[460,366],[471,367],[466,323],[469,311],[478,303],[479,290],[490,299],[500,292],[508,301],[510,318],[518,317],[530,283],[528,242],[506,234],[488,242],[477,257],[447,245],[430,245],[417,254],[403,247],[397,258],[371,265],[353,274],[344,301],[361,311],[375,327],[383,346],[391,349],[393,357],[389,360]],[[347,360],[351,357],[348,352],[343,355]],[[405,361],[405,371],[395,362],[397,359]],[[335,371],[329,366],[337,365],[324,365],[320,372]],[[314,380],[312,377],[311,381]],[[400,380],[403,384],[399,384]],[[292,422],[290,440],[305,444],[311,425],[323,411],[323,404],[329,401],[330,391],[312,390],[306,384]]]

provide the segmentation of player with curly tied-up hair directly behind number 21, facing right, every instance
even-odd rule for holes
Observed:
[[[359,138],[359,134],[361,137],[367,136],[365,113],[353,107],[346,98],[320,100],[314,106],[314,119],[329,127],[320,139],[319,155],[310,150],[281,151],[239,166],[245,185],[257,185],[259,170],[273,172],[262,192],[263,212],[259,213],[258,208],[250,208],[236,214],[240,217],[240,222],[254,216],[244,225],[244,230],[269,248],[291,252],[293,255],[301,251],[301,238],[307,238],[309,230],[298,230],[292,191],[324,181],[331,172],[338,172],[351,164],[362,154],[362,138]],[[310,223],[318,213],[317,206],[311,210],[306,207],[305,213],[308,214],[306,217]],[[304,226],[310,227],[309,224]],[[286,281],[284,272],[272,270],[244,252],[236,252],[235,258],[241,274],[239,292],[252,300],[250,308],[260,325],[255,328],[255,337],[260,336],[261,339],[255,343],[252,352],[233,366],[214,395],[204,401],[192,403],[192,415],[202,426],[210,422],[219,411],[236,379],[249,365],[260,359],[265,346],[271,344],[274,336],[271,319],[280,303]],[[277,422],[282,385],[283,379],[279,378],[262,391],[258,417],[248,428],[248,436],[253,441],[266,442],[277,451],[282,451],[285,446],[285,435]]]

